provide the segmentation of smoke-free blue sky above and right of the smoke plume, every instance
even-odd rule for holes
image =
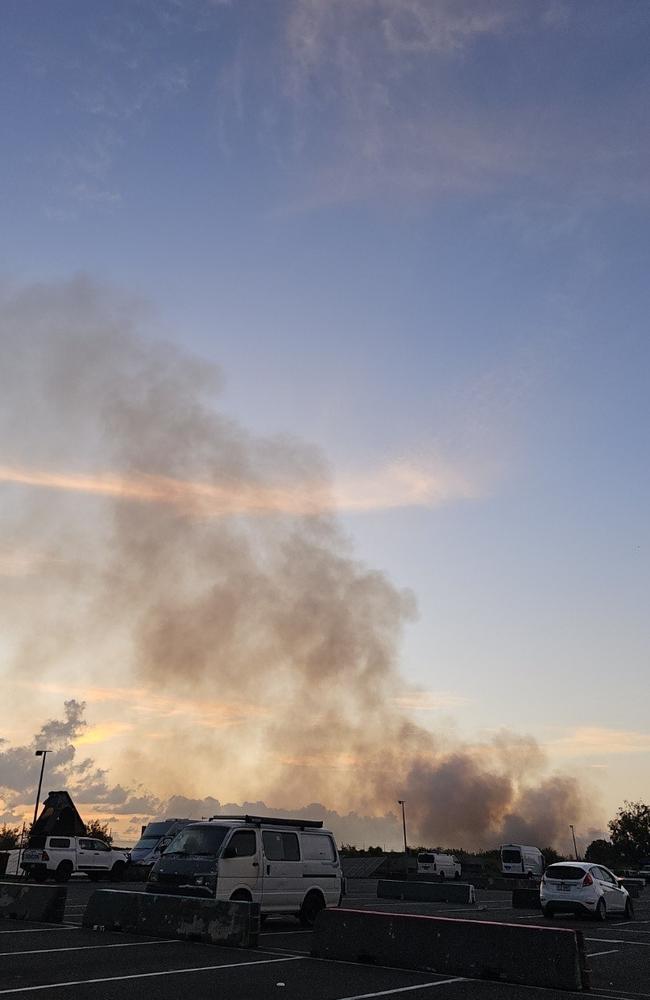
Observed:
[[[322,449],[357,556],[417,599],[418,721],[597,768],[594,823],[642,797],[647,6],[7,0],[3,21],[4,281],[135,297],[150,336],[220,366],[224,412]]]

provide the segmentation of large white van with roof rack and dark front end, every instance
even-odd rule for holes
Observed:
[[[341,862],[320,820],[213,816],[174,837],[154,864],[147,892],[241,899],[262,915],[292,913],[311,927],[327,906],[339,906]]]

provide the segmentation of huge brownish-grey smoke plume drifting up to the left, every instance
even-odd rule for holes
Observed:
[[[154,748],[134,741],[136,776],[160,789],[169,771],[167,794],[186,790],[181,767],[185,780],[199,769],[208,793],[227,779],[242,799],[292,811],[318,800],[382,817],[407,798],[413,840],[467,847],[552,841],[567,815],[578,822],[576,783],[540,777],[533,740],[449,747],[396,706],[412,595],[354,558],[320,454],[223,416],[220,373],[140,335],[149,322],[83,278],[4,289],[1,464],[101,487],[0,484],[0,554],[27,566],[0,576],[12,668],[47,676],[83,661],[104,687],[249,706],[234,727],[177,718]],[[107,477],[129,496],[110,495]],[[121,815],[160,806],[90,760],[74,767],[80,801]]]

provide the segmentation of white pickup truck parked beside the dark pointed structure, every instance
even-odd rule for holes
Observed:
[[[94,837],[40,837],[41,844],[30,844],[20,867],[28,877],[54,878],[67,882],[74,872],[84,872],[94,882],[110,878],[119,882],[129,861],[127,851],[109,847]]]

